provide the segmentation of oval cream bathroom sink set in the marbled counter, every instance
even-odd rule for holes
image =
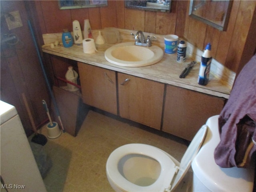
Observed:
[[[134,42],[113,45],[105,51],[108,62],[125,67],[142,67],[155,64],[164,57],[158,46],[138,46]]]

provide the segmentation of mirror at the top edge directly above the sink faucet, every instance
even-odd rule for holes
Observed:
[[[126,8],[170,12],[171,0],[126,0]]]

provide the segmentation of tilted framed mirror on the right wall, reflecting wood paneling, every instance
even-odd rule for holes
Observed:
[[[232,7],[229,0],[190,0],[189,15],[218,30],[225,31]]]

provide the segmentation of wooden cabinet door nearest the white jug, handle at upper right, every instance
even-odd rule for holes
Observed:
[[[78,62],[83,102],[117,114],[116,72]]]

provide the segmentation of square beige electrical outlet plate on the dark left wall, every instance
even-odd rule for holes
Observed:
[[[4,16],[9,30],[23,26],[19,11],[9,12]]]

